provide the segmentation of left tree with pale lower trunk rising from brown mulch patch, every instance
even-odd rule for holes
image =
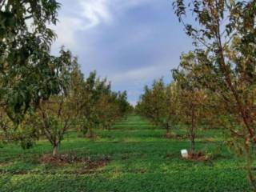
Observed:
[[[77,111],[74,108],[74,82],[72,74],[77,70],[76,58],[72,58],[70,51],[61,50],[61,57],[56,59],[56,63],[61,62],[60,67],[54,70],[59,75],[59,92],[50,98],[42,98],[38,102],[38,126],[49,140],[53,147],[53,156],[57,156],[64,134],[74,123]]]

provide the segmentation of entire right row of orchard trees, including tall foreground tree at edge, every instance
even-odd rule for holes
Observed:
[[[138,111],[156,125],[189,122],[192,145],[198,124],[226,130],[256,190],[256,1],[175,0],[173,6],[195,49],[182,54],[172,84],[146,87]]]

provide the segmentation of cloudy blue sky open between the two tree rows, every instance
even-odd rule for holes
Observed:
[[[154,79],[170,82],[180,55],[192,50],[171,0],[58,2],[53,53],[65,46],[78,57],[86,77],[96,70],[113,90],[126,90],[132,105]]]

